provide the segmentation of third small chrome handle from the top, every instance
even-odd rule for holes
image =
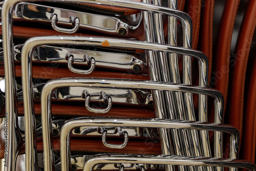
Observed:
[[[99,99],[103,99],[104,101],[108,102],[108,106],[105,109],[96,109],[96,108],[92,108],[89,105],[89,102],[91,100],[91,96],[90,96],[90,94],[88,93],[87,90],[83,91],[83,95],[86,98],[86,104],[85,104],[86,105],[86,109],[88,111],[90,111],[90,112],[104,114],[104,113],[108,113],[111,110],[111,108],[112,108],[112,98],[110,96],[106,96],[104,91],[100,92]]]

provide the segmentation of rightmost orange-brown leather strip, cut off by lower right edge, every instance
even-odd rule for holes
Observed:
[[[240,159],[255,161],[256,148],[256,57],[250,56],[244,92],[243,137]]]

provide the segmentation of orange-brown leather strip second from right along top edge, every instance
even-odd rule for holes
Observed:
[[[213,77],[217,79],[212,87],[219,90],[223,94],[225,99],[225,106],[227,101],[226,99],[228,89],[230,45],[234,20],[236,18],[239,3],[240,0],[226,1],[224,12],[220,22],[218,41],[216,49],[214,49],[216,53],[214,54],[212,59],[211,79]]]

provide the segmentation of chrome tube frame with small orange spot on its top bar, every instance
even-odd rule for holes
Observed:
[[[102,42],[108,41],[110,47],[120,47],[120,48],[132,48],[132,49],[144,49],[144,50],[153,50],[153,51],[163,51],[169,53],[179,53],[179,54],[186,54],[189,56],[193,56],[198,59],[200,63],[199,71],[200,77],[206,82],[207,80],[207,72],[208,72],[208,59],[207,57],[196,50],[185,49],[181,47],[173,47],[173,46],[166,46],[166,45],[159,45],[159,44],[152,44],[146,43],[141,41],[134,41],[134,40],[124,40],[124,39],[115,39],[115,38],[99,38],[99,37],[72,37],[72,36],[45,36],[45,37],[33,37],[26,41],[23,52],[22,52],[22,81],[23,81],[23,93],[24,93],[24,112],[25,112],[25,124],[26,130],[25,134],[28,135],[26,138],[28,140],[26,142],[34,142],[34,131],[33,130],[33,123],[32,116],[33,116],[33,97],[32,97],[32,74],[31,74],[31,67],[32,67],[32,55],[33,50],[39,45],[90,45],[90,46],[101,46]],[[215,101],[217,102],[217,101]],[[219,104],[218,104],[219,105]],[[223,106],[220,105],[218,108],[221,111],[218,111],[217,118],[222,116]],[[219,120],[219,119],[218,119]],[[222,118],[220,118],[222,120]],[[32,134],[33,133],[33,134]],[[221,141],[219,141],[221,143]],[[33,151],[34,144],[33,143],[26,143],[26,149],[28,154],[27,161],[33,161]],[[33,164],[29,163],[29,167]],[[51,166],[50,166],[51,167]]]

